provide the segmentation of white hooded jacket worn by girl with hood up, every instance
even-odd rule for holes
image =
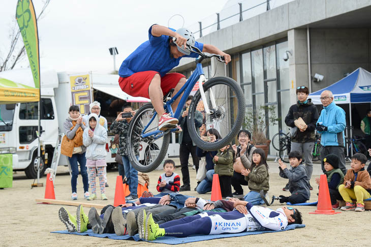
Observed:
[[[103,126],[99,124],[99,117],[95,113],[90,113],[88,119],[94,117],[97,121],[96,128],[94,129],[93,137],[89,137],[89,130],[92,129],[88,124],[88,128],[84,130],[84,134],[82,136],[84,146],[86,146],[86,159],[90,160],[100,160],[106,159],[106,142],[107,142],[107,131],[104,129]]]

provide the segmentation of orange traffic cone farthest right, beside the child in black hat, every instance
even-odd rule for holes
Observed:
[[[327,176],[322,174],[320,177],[320,193],[318,194],[317,210],[310,212],[314,214],[335,214],[331,206],[330,192],[328,191]]]

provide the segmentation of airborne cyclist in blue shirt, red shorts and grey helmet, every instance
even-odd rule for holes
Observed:
[[[172,37],[176,38],[175,43]],[[225,63],[231,61],[231,56],[213,45],[195,42],[195,38],[187,28],[175,29],[154,24],[149,27],[148,40],[142,43],[132,54],[123,60],[118,71],[118,83],[122,91],[134,97],[145,97],[151,100],[153,108],[159,114],[159,129],[161,131],[178,123],[178,119],[165,113],[163,105],[164,94],[174,88],[173,95],[185,83],[185,76],[179,73],[169,73],[179,65],[182,57],[197,58],[186,45],[193,45],[202,52],[215,53],[224,57]],[[172,104],[175,111],[181,97]],[[181,131],[177,126],[178,131]]]

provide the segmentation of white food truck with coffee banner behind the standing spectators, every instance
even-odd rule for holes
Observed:
[[[0,77],[27,84],[33,83],[29,69],[1,72]],[[80,73],[69,74],[54,70],[41,70],[41,135],[40,140],[45,145],[45,158],[50,166],[58,135],[64,132],[63,123],[68,117],[68,109],[72,104],[80,105],[80,112],[87,114],[88,103],[92,94],[100,97],[102,103],[109,105],[113,100],[121,99],[127,102],[149,102],[148,99],[131,97],[122,92],[118,86],[118,75]],[[89,84],[89,85],[88,85]],[[86,89],[86,90],[80,90]],[[94,99],[96,100],[96,99]],[[102,104],[101,104],[102,105]],[[37,147],[38,139],[38,102],[2,104],[0,113],[0,153],[12,153],[13,171],[24,170],[28,178],[37,177]],[[103,106],[102,106],[103,111]],[[108,112],[111,117],[102,115],[110,121],[116,118],[116,111]],[[107,111],[106,111],[107,112]],[[115,163],[117,147],[112,144],[114,135],[108,132],[106,144],[108,166]],[[145,148],[144,148],[145,149]],[[143,153],[141,159],[143,159]],[[67,157],[61,155],[58,165],[68,165]],[[45,165],[40,172],[43,175]]]

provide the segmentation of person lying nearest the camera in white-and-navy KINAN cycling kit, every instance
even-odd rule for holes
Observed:
[[[244,231],[284,230],[289,224],[302,224],[301,213],[293,207],[272,210],[236,201],[236,210],[230,212],[204,212],[158,225],[152,213],[143,210],[138,215],[139,237],[154,240],[161,236],[188,237],[194,234],[215,235]]]

